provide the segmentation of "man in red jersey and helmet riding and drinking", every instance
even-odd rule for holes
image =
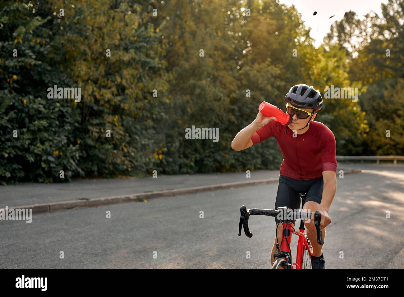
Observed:
[[[313,86],[298,84],[292,86],[285,96],[286,111],[292,117],[288,126],[275,121],[275,117],[264,116],[258,112],[257,118],[242,129],[231,142],[236,151],[245,150],[252,145],[275,137],[282,153],[283,161],[280,167],[278,192],[275,208],[287,206],[299,209],[299,192],[306,194],[303,210],[321,213],[320,229],[323,239],[325,227],[331,223],[328,211],[337,189],[337,160],[335,157],[336,142],[331,130],[321,122],[314,121],[317,112],[322,107],[322,97]],[[291,130],[288,133],[288,130]],[[276,224],[279,219],[275,218]],[[296,220],[292,220],[294,227]],[[317,243],[314,222],[305,221],[307,237],[311,242],[312,269],[325,269],[322,245]],[[282,225],[277,228],[278,238],[282,238]],[[275,236],[271,261],[274,261],[277,238]],[[280,242],[279,242],[280,244]]]

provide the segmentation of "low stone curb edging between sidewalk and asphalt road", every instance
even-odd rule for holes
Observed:
[[[344,171],[344,175],[350,173],[360,173],[361,169],[351,169],[351,171]],[[126,202],[142,202],[145,200],[160,198],[160,197],[173,197],[186,194],[194,194],[201,192],[217,191],[221,189],[232,189],[234,187],[250,187],[254,185],[264,185],[267,183],[277,183],[279,178],[276,179],[259,179],[256,181],[237,181],[234,183],[219,183],[217,185],[202,185],[200,187],[188,187],[175,190],[162,190],[154,192],[143,192],[130,195],[111,196],[92,199],[69,200],[61,202],[50,202],[44,204],[32,204],[8,207],[8,209],[32,209],[32,213],[54,213],[57,211],[90,208],[107,204],[120,204]]]

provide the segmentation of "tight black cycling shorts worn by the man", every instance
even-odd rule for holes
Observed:
[[[323,178],[300,180],[279,175],[278,192],[276,193],[274,209],[280,206],[286,206],[293,210],[300,209],[301,198],[299,193],[306,193],[305,202],[314,201],[320,204],[323,194]],[[291,221],[295,224],[296,219]],[[275,217],[275,222],[278,224],[280,220]]]

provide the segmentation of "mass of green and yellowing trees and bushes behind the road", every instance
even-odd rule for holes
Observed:
[[[382,10],[347,12],[315,48],[277,0],[3,1],[0,182],[278,169],[274,139],[242,152],[231,141],[261,101],[284,108],[302,82],[360,91],[316,117],[337,154],[402,154],[403,1]],[[81,101],[49,99],[54,85],[80,87]],[[219,142],[185,139],[192,126],[219,128]]]

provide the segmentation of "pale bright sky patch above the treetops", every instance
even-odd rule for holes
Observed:
[[[316,41],[314,46],[318,47],[324,36],[330,32],[330,25],[335,21],[341,21],[345,12],[355,11],[360,19],[370,11],[374,11],[381,16],[381,3],[387,0],[279,0],[288,6],[295,4],[297,11],[301,13],[305,26],[311,27],[310,36]],[[316,15],[313,13],[317,11]],[[329,19],[330,16],[335,15]]]

